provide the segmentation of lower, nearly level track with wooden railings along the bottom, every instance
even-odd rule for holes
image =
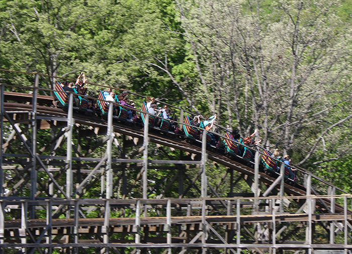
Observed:
[[[293,199],[302,199],[313,201],[319,199],[317,196],[299,196]],[[11,209],[14,214],[18,213],[19,219],[0,220],[0,232],[4,232],[4,244],[0,247],[88,247],[89,243],[94,243],[95,247],[139,247],[151,248],[150,244],[155,244],[152,248],[209,248],[217,249],[231,248],[235,251],[243,248],[259,248],[264,251],[268,248],[277,249],[326,249],[326,245],[330,248],[352,249],[351,214],[347,210],[347,204],[352,200],[351,195],[328,196],[331,199],[342,199],[345,207],[344,213],[338,214],[318,214],[318,213],[287,213],[279,212],[282,199],[278,196],[259,198],[199,198],[199,199],[132,199],[132,200],[107,200],[107,199],[71,199],[71,200],[1,200],[0,204],[4,211]],[[261,200],[261,201],[259,201]],[[259,201],[259,202],[258,202]],[[228,204],[227,209],[220,214],[219,209],[222,202]],[[314,203],[314,202],[311,202]],[[248,208],[259,204],[260,207],[266,207],[267,212],[259,212],[259,214],[246,214]],[[25,215],[26,207],[36,206],[46,210],[46,219],[29,219]],[[65,209],[72,209],[74,218],[53,218],[52,210],[56,207],[63,206]],[[206,207],[213,207],[204,209]],[[103,208],[111,211],[122,209],[131,209],[138,216],[131,217],[113,217],[108,218],[108,226],[106,218],[78,218],[79,212],[87,214],[92,207],[97,209]],[[144,207],[147,213],[157,208],[160,216],[144,217],[144,211],[140,209]],[[181,210],[180,210],[181,208]],[[192,211],[200,211],[200,215],[190,215]],[[210,215],[213,211],[217,211],[217,215]],[[265,209],[261,209],[265,210]],[[206,211],[206,214],[203,212]],[[6,213],[5,213],[6,214]],[[228,215],[234,214],[234,215]],[[3,215],[4,216],[4,215]],[[1,218],[1,216],[0,216]],[[319,223],[335,223],[342,229],[343,243],[326,244],[314,239],[314,233],[309,230],[310,225],[316,226]],[[266,237],[255,236],[255,228],[257,224],[272,224],[272,232]],[[200,231],[207,225],[208,239],[205,239],[206,233]],[[50,227],[49,227],[50,226]],[[286,233],[280,230],[285,227]],[[179,228],[181,231],[170,230],[171,228]],[[50,229],[50,232],[48,231]],[[301,237],[289,236],[287,232],[295,231],[303,232]],[[106,233],[113,236],[109,242],[102,240],[102,236]],[[237,232],[237,233],[236,233]],[[24,244],[23,239],[27,234],[36,240],[36,243],[27,242]],[[44,234],[51,235],[43,238]],[[73,233],[73,234],[72,234]],[[72,235],[71,240],[63,241],[62,236]],[[125,238],[127,235],[134,235],[133,238]],[[231,235],[231,237],[226,237]],[[237,238],[235,236],[240,235]],[[86,237],[90,237],[88,242]],[[260,240],[259,240],[260,237]],[[104,238],[104,237],[103,237]],[[306,240],[305,240],[306,239]],[[36,245],[37,244],[37,245]],[[85,245],[87,244],[87,245]],[[259,251],[260,252],[260,251]]]

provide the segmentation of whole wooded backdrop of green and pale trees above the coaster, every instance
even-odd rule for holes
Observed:
[[[351,193],[351,21],[350,0],[0,0],[0,68],[217,113]]]

